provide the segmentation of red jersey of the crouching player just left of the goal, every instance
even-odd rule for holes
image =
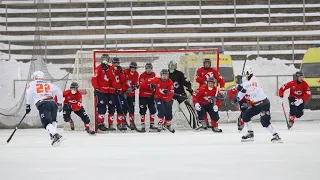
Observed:
[[[72,94],[71,90],[65,90],[63,92],[64,104],[70,104],[72,111],[79,111],[82,107],[82,94],[80,91],[77,91],[76,94]]]

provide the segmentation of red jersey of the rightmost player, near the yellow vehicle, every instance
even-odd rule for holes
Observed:
[[[279,96],[283,97],[284,91],[290,88],[290,95],[289,97],[294,97],[296,99],[302,99],[303,102],[308,101],[311,96],[311,92],[309,89],[309,85],[307,82],[302,81],[298,84],[297,80],[290,81],[284,84],[279,89]]]

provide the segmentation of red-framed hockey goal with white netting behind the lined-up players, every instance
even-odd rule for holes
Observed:
[[[121,66],[128,68],[132,61],[138,64],[138,73],[144,72],[146,63],[152,63],[153,71],[159,76],[161,69],[167,69],[170,61],[178,64],[178,69],[185,73],[186,77],[192,82],[193,88],[197,88],[195,83],[195,73],[197,68],[202,67],[203,60],[209,58],[212,66],[219,70],[219,50],[212,49],[192,49],[192,50],[94,50],[78,51],[76,53],[75,64],[73,69],[73,81],[79,83],[79,89],[83,92],[83,105],[91,120],[91,127],[96,129],[96,108],[93,88],[91,86],[91,77],[95,68],[101,63],[103,56],[109,55],[110,58],[118,57],[121,60]],[[110,62],[111,63],[111,62]],[[138,92],[136,95],[136,104],[138,104]],[[135,121],[140,125],[139,107],[135,106]],[[175,115],[174,125],[178,127],[187,127],[188,125],[182,116]],[[75,119],[77,130],[83,129],[83,123],[80,119]],[[106,122],[106,121],[105,121]],[[148,122],[148,118],[147,118]]]

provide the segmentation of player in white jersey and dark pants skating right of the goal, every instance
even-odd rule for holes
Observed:
[[[248,134],[242,136],[241,141],[253,141],[254,134],[252,130],[251,118],[260,114],[260,122],[262,126],[266,128],[273,136],[271,142],[282,143],[281,138],[270,123],[270,101],[265,95],[258,78],[253,75],[252,68],[246,67],[243,76],[246,78],[246,81],[237,87],[237,90],[239,91],[238,99],[242,99],[244,96],[248,95],[250,98],[250,107],[242,116],[243,121],[248,129]]]

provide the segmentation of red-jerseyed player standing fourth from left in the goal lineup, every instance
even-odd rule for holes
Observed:
[[[148,79],[154,78],[156,74],[152,71],[153,66],[151,63],[146,63],[145,65],[145,72],[143,72],[139,77],[139,84],[147,81]],[[141,87],[139,89],[139,113],[140,113],[140,120],[141,120],[141,130],[145,131],[145,119],[147,108],[149,109],[150,113],[150,129],[158,129],[154,125],[154,118],[157,112],[155,104],[154,104],[154,89],[147,87]]]

